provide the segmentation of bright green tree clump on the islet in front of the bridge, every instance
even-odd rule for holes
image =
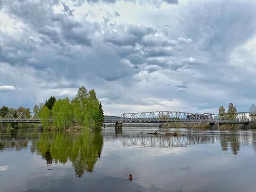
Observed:
[[[73,121],[78,122],[82,128],[100,130],[104,120],[101,102],[94,90],[87,91],[82,86],[78,89],[72,101],[69,98],[58,99],[52,96],[43,105],[35,105],[34,112],[42,120],[44,128],[54,126],[60,129],[69,128]]]

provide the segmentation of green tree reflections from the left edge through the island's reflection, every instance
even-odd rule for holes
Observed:
[[[101,133],[94,132],[47,132],[23,137],[22,131],[12,130],[0,136],[0,150],[4,148],[21,150],[27,148],[31,141],[31,153],[41,155],[46,160],[47,166],[70,161],[78,177],[81,177],[84,172],[93,171],[103,146]]]

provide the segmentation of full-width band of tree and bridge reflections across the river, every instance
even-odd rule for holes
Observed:
[[[30,129],[31,130],[31,129]],[[23,132],[22,132],[23,131]],[[27,131],[27,130],[26,130]],[[152,131],[151,131],[152,132]],[[243,146],[252,146],[256,152],[256,132],[244,131],[197,131],[183,130],[181,135],[153,135],[139,131],[125,131],[115,135],[113,130],[102,133],[64,133],[24,132],[24,129],[0,133],[0,151],[8,148],[15,150],[30,149],[32,154],[40,155],[47,165],[71,162],[75,174],[79,177],[84,172],[92,172],[101,157],[102,147],[114,143],[123,147],[189,147],[203,144],[217,144],[223,152],[237,155]],[[219,146],[218,146],[219,144]]]

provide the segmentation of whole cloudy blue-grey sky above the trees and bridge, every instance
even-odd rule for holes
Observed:
[[[105,115],[256,103],[255,0],[0,0],[0,105],[94,89]]]

